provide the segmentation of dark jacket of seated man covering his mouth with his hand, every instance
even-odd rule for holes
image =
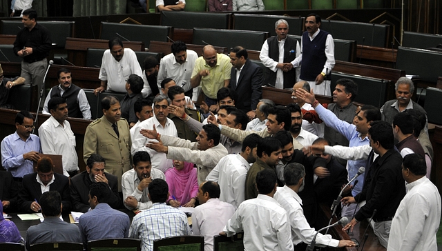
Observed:
[[[118,179],[115,175],[104,173],[106,179],[108,179],[109,187],[112,190],[112,197],[108,198],[107,201],[100,201],[108,203],[111,208],[119,209],[122,208],[122,199],[120,199],[118,194]],[[88,212],[90,208],[89,205],[89,186],[92,181],[89,178],[87,171],[83,171],[72,179],[70,179],[70,199],[73,203],[73,211],[75,212]]]

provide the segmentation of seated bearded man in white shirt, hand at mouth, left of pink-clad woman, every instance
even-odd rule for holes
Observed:
[[[128,210],[144,210],[151,208],[152,201],[148,198],[148,185],[153,179],[165,180],[164,173],[152,168],[151,157],[147,152],[133,154],[133,169],[122,177],[124,206]]]

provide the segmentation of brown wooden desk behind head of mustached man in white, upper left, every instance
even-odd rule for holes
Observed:
[[[144,52],[144,42],[124,41],[124,48],[131,48],[135,52]],[[74,37],[66,38],[68,51],[68,60],[75,66],[86,66],[86,54],[88,48],[105,49],[109,48],[108,40],[104,39],[77,39]]]

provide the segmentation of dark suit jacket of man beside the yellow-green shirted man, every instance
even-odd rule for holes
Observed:
[[[262,97],[262,69],[256,63],[247,59],[241,70],[240,78],[236,83],[236,68],[232,67],[229,88],[235,90],[239,99],[235,102],[236,108],[249,112],[256,110],[256,105]]]

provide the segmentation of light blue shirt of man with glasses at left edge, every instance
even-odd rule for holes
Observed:
[[[37,135],[30,134],[28,139],[23,141],[17,132],[10,134],[1,141],[1,165],[10,171],[13,177],[23,178],[26,174],[34,172],[32,161],[23,159],[23,154],[32,151],[41,152]]]

